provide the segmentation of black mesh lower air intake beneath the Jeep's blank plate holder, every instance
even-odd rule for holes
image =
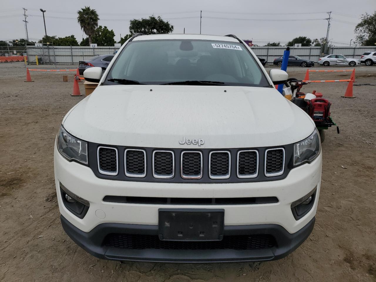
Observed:
[[[105,246],[120,249],[260,250],[276,245],[272,235],[224,236],[221,241],[161,241],[156,235],[109,234]]]

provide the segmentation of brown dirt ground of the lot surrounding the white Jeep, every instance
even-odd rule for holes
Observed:
[[[305,71],[288,68],[300,79]],[[341,133],[326,131],[316,224],[291,255],[262,263],[120,263],[89,255],[60,224],[53,142],[63,116],[83,99],[70,96],[73,73],[70,82],[62,74],[33,71],[35,82],[24,82],[21,64],[0,64],[1,281],[376,281],[376,86],[354,86],[356,99],[340,97],[346,82],[303,88],[331,100]],[[310,76],[347,79],[350,73]],[[376,84],[376,66],[356,67],[356,83]]]

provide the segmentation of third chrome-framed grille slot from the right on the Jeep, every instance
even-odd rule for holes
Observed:
[[[226,179],[230,177],[230,152],[214,151],[209,153],[209,177]]]

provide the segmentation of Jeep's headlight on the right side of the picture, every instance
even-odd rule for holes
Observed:
[[[320,153],[320,137],[315,131],[307,139],[294,144],[294,166],[310,162]]]

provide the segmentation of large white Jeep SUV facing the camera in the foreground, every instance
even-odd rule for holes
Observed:
[[[136,34],[55,142],[61,223],[102,259],[282,258],[311,233],[320,136],[236,36]]]

